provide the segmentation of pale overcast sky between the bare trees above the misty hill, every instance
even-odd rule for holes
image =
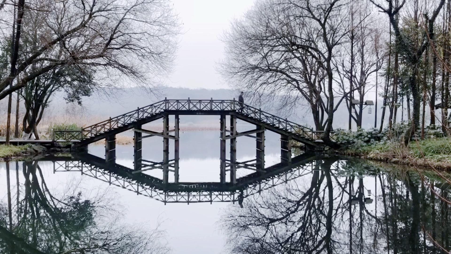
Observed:
[[[220,41],[230,21],[254,0],[172,0],[183,24],[174,72],[166,85],[186,88],[227,88],[214,66],[222,58]]]

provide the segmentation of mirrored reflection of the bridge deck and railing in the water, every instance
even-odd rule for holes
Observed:
[[[244,198],[286,183],[318,169],[315,162],[319,155],[302,154],[292,158],[291,163],[278,163],[236,179],[232,182],[178,182],[164,183],[123,165],[106,162],[100,157],[74,154],[71,157],[48,156],[44,160],[54,163],[54,171],[79,171],[106,183],[128,189],[137,194],[162,202],[241,202]]]

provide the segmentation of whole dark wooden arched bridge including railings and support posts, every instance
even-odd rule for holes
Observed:
[[[169,128],[169,117],[174,115],[174,129]],[[134,170],[142,171],[143,167],[163,169],[163,182],[168,183],[169,171],[174,172],[175,183],[179,179],[179,116],[180,115],[219,115],[221,130],[221,183],[225,182],[226,171],[230,171],[230,182],[236,181],[236,168],[244,167],[256,171],[264,171],[265,131],[270,130],[281,135],[281,162],[291,163],[292,141],[303,143],[307,150],[321,151],[323,142],[319,139],[322,132],[302,126],[287,119],[277,117],[234,100],[173,100],[164,99],[143,108],[137,108],[115,118],[76,131],[55,131],[54,140],[70,141],[75,146],[83,147],[90,143],[106,140],[106,162],[115,161],[115,135],[130,129],[134,131]],[[227,128],[226,116],[230,116]],[[163,132],[153,132],[142,128],[143,124],[163,119]],[[236,120],[252,123],[255,129],[237,132]],[[173,135],[171,133],[174,132]],[[255,135],[255,136],[254,136]],[[143,163],[142,139],[151,136],[163,137],[163,161]],[[256,139],[256,159],[245,162],[236,161],[236,138],[248,136]],[[174,159],[169,159],[169,140],[174,142]],[[226,141],[230,140],[230,158],[226,159]],[[148,170],[148,169],[145,169]]]

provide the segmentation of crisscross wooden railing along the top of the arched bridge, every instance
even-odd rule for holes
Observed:
[[[83,128],[82,138],[96,136],[101,132],[108,131],[112,128],[121,127],[133,121],[149,117],[164,110],[239,110],[248,116],[259,119],[262,122],[269,122],[276,127],[283,128],[288,132],[314,139],[313,129],[302,126],[295,122],[288,121],[286,118],[280,118],[271,113],[267,113],[260,108],[254,108],[247,104],[241,106],[238,101],[234,100],[213,100],[213,99],[164,99],[156,103],[152,103],[142,108],[132,110],[114,118],[98,122]]]

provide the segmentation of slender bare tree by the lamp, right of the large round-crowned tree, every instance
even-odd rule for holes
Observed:
[[[367,92],[376,84],[371,78],[383,66],[385,59],[382,29],[372,14],[367,1],[352,2],[349,42],[341,48],[341,55],[334,57],[336,74],[341,92],[346,95],[346,106],[357,127],[362,127],[363,103]],[[355,24],[355,25],[354,25]],[[349,85],[347,85],[349,84]],[[359,103],[352,103],[357,92]],[[357,107],[357,108],[356,108]],[[351,122],[350,126],[351,128]]]

